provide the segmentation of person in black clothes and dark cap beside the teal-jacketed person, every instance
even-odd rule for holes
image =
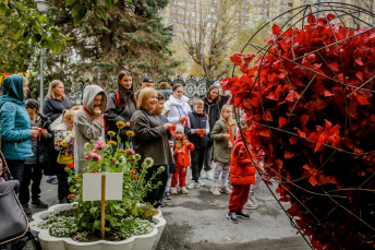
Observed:
[[[29,202],[29,184],[32,183],[32,206],[39,209],[47,209],[48,204],[40,201],[40,180],[43,170],[49,164],[49,146],[53,138],[53,132],[50,129],[51,121],[48,117],[39,114],[39,103],[36,99],[26,99],[26,111],[31,118],[32,128],[39,128],[40,134],[37,138],[32,138],[32,150],[34,156],[25,159],[24,174],[20,188],[20,203],[25,214],[32,214],[28,206]]]

